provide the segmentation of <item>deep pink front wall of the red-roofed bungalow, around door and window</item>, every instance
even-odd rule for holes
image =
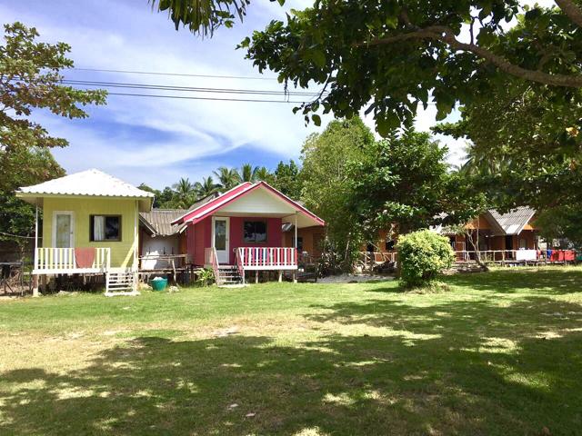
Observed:
[[[245,221],[266,221],[266,242],[265,243],[245,243],[243,240],[243,225]],[[283,232],[281,230],[281,218],[261,218],[261,217],[230,217],[230,264],[235,263],[234,249],[238,247],[282,247]],[[188,224],[187,248],[188,254],[195,265],[204,265],[205,248],[212,246],[212,216],[202,220],[200,223]]]

